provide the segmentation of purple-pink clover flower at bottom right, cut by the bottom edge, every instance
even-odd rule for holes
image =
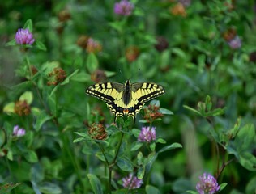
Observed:
[[[211,174],[203,173],[199,179],[200,181],[196,185],[199,194],[213,194],[220,190],[220,186]]]

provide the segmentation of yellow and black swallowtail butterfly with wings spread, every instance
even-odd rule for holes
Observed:
[[[164,88],[153,82],[135,82],[127,80],[125,84],[118,82],[99,82],[87,87],[87,95],[102,99],[115,114],[115,122],[118,116],[131,116],[135,122],[135,116],[143,108],[144,103],[164,95]]]

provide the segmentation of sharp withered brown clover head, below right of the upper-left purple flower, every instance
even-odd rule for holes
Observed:
[[[56,86],[58,83],[63,82],[66,79],[66,72],[61,67],[55,67],[49,75],[49,82],[47,85]]]

